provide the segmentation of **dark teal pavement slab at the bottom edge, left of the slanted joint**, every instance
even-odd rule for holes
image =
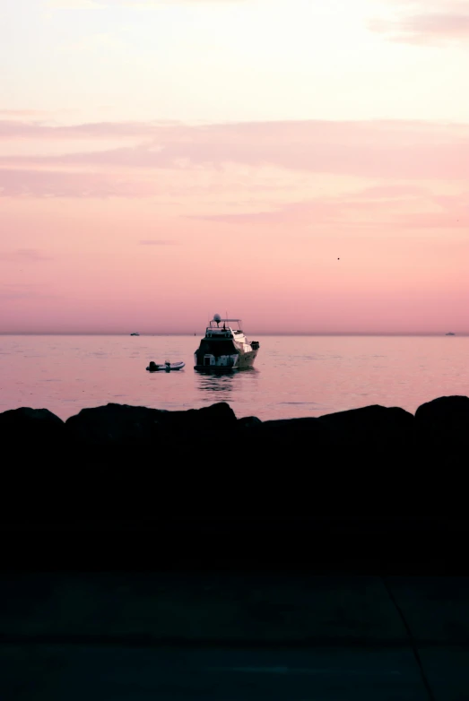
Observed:
[[[5,699],[427,701],[406,649],[204,650],[92,645],[0,648]],[[446,697],[447,698],[447,697]]]

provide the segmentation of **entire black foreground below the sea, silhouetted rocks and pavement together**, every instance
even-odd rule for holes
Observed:
[[[0,441],[0,701],[469,699],[469,398]]]

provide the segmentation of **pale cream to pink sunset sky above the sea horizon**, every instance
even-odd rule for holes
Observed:
[[[2,0],[0,333],[469,333],[468,74],[466,0]]]

